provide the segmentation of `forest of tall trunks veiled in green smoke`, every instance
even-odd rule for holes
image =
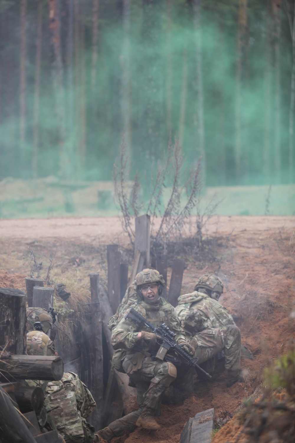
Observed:
[[[12,179],[110,181],[123,134],[131,175],[177,137],[206,187],[264,185],[267,213],[272,185],[292,214],[293,23],[293,0],[0,0],[0,217],[42,198]]]

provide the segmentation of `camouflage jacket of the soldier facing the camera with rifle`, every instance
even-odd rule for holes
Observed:
[[[140,301],[139,303],[133,303],[130,307],[133,307],[153,326],[160,326],[165,323],[169,329],[176,333],[175,341],[177,344],[186,342],[175,308],[163,297],[159,298],[159,303],[156,305],[149,305],[144,301]],[[146,326],[141,326],[134,320],[125,320],[123,317],[113,329],[111,344],[114,349],[132,350],[134,345],[138,345],[148,351],[149,348],[146,346],[146,342],[138,340],[138,332],[141,330],[151,332]]]

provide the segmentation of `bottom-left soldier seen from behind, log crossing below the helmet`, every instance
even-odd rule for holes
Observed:
[[[42,331],[27,334],[28,355],[57,355],[53,342]],[[40,386],[45,393],[45,428],[56,429],[66,443],[92,443],[94,427],[86,418],[96,408],[91,392],[77,374],[66,372],[59,381],[26,380],[28,386]]]

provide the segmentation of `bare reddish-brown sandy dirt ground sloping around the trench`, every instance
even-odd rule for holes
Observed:
[[[76,223],[73,227],[73,220],[80,220],[81,225]],[[44,220],[26,220],[25,225],[20,220],[9,221],[9,232],[3,224],[8,221],[0,221],[0,268],[29,275],[27,243],[33,240],[31,247],[38,251],[40,257],[49,256],[55,248],[53,245],[57,245],[55,263],[59,269],[66,269],[63,272],[68,272],[69,267],[67,264],[63,268],[65,260],[75,256],[77,251],[83,254],[84,264],[79,268],[71,266],[73,279],[85,281],[83,285],[88,291],[90,269],[92,272],[100,270],[105,275],[105,262],[99,257],[101,250],[111,241],[117,243],[118,235],[121,245],[127,246],[128,241],[118,219],[113,219],[112,228],[107,219],[100,219],[94,224],[94,219],[84,220],[59,219],[55,222],[50,219],[48,223],[53,226],[52,229],[43,225]],[[242,400],[252,394],[263,366],[284,354],[288,342],[294,338],[294,320],[289,318],[295,300],[294,220],[294,217],[221,218],[218,234],[222,235],[222,240],[215,251],[218,260],[205,257],[203,261],[194,261],[189,256],[186,260],[182,293],[191,292],[196,279],[204,272],[218,273],[225,283],[226,290],[220,301],[235,316],[241,329],[242,343],[254,355],[253,361],[241,361],[245,382],[227,389],[226,371],[213,377],[212,381],[196,377],[195,392],[190,398],[182,404],[162,406],[159,431],[147,433],[137,429],[127,437],[115,439],[115,443],[178,443],[189,416],[212,407],[217,416],[235,412]],[[42,225],[42,232],[34,223]],[[216,225],[208,230],[213,234]],[[168,270],[168,275],[170,272]],[[23,277],[17,274],[1,272],[0,279],[1,286],[24,287],[20,283],[24,281]],[[216,437],[215,442],[219,442]]]

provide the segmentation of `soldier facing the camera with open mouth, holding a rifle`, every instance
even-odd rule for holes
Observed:
[[[161,297],[164,285],[165,280],[158,271],[144,269],[139,272],[134,281],[134,291],[138,297],[131,306],[154,326],[162,323],[169,326],[176,333],[176,343],[192,354],[193,349],[184,337],[174,307]],[[113,358],[113,364],[130,377],[138,391],[138,405],[143,408],[136,425],[153,430],[160,427],[154,417],[159,410],[163,392],[177,374],[176,366],[171,362],[151,358],[149,351],[154,349],[156,342],[156,334],[124,318],[115,326],[111,335],[114,349],[120,350],[120,358],[115,353],[116,361]],[[118,362],[121,362],[121,368]]]

